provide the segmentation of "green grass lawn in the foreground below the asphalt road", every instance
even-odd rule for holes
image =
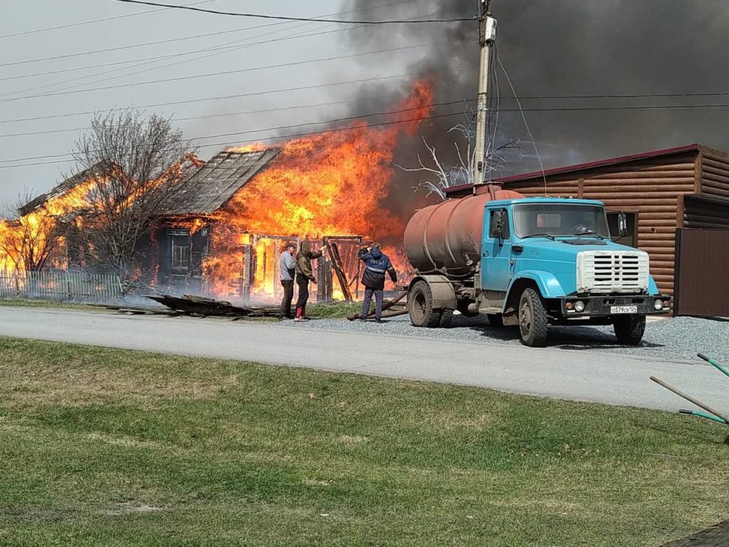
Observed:
[[[729,517],[726,429],[0,338],[0,545],[655,547]]]

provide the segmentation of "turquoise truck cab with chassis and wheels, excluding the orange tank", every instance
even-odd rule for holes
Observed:
[[[421,276],[419,286],[427,284],[433,306],[441,306],[440,326],[448,309],[458,309],[487,314],[491,325],[518,327],[526,346],[545,346],[549,325],[611,324],[621,344],[637,345],[646,316],[670,312],[670,298],[650,276],[647,252],[612,241],[600,201],[488,201],[480,237],[472,277]],[[408,296],[416,312],[417,296]],[[412,311],[411,319],[417,325]]]

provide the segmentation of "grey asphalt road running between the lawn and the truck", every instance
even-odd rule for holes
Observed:
[[[607,352],[529,349],[420,336],[374,336],[305,324],[0,306],[0,335],[488,387],[545,397],[677,411],[692,408],[658,376],[700,400],[729,406],[726,382],[701,362]]]

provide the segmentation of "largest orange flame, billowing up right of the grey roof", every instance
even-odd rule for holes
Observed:
[[[382,207],[394,177],[392,158],[399,137],[415,134],[432,112],[432,96],[431,82],[421,80],[394,109],[397,113],[390,115],[388,125],[371,127],[358,120],[346,130],[276,144],[281,153],[233,196],[211,232],[206,273],[212,292],[227,295],[230,279],[240,276],[236,258],[241,255],[243,233],[308,239],[399,237],[403,220]],[[252,144],[230,151],[264,148]],[[403,263],[394,249],[385,250],[396,268]],[[262,256],[256,252],[261,268]],[[265,292],[272,295],[268,289]]]

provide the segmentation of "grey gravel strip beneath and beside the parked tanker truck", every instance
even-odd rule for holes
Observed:
[[[481,341],[489,345],[520,346],[514,328],[494,328],[486,317],[453,316],[448,329],[421,329],[410,325],[408,316],[373,321],[316,319],[296,327],[356,333],[386,333],[444,340]],[[701,352],[729,365],[729,320],[677,317],[649,321],[641,346],[620,346],[612,327],[550,327],[547,344],[569,351],[609,352],[669,361],[695,360]]]

